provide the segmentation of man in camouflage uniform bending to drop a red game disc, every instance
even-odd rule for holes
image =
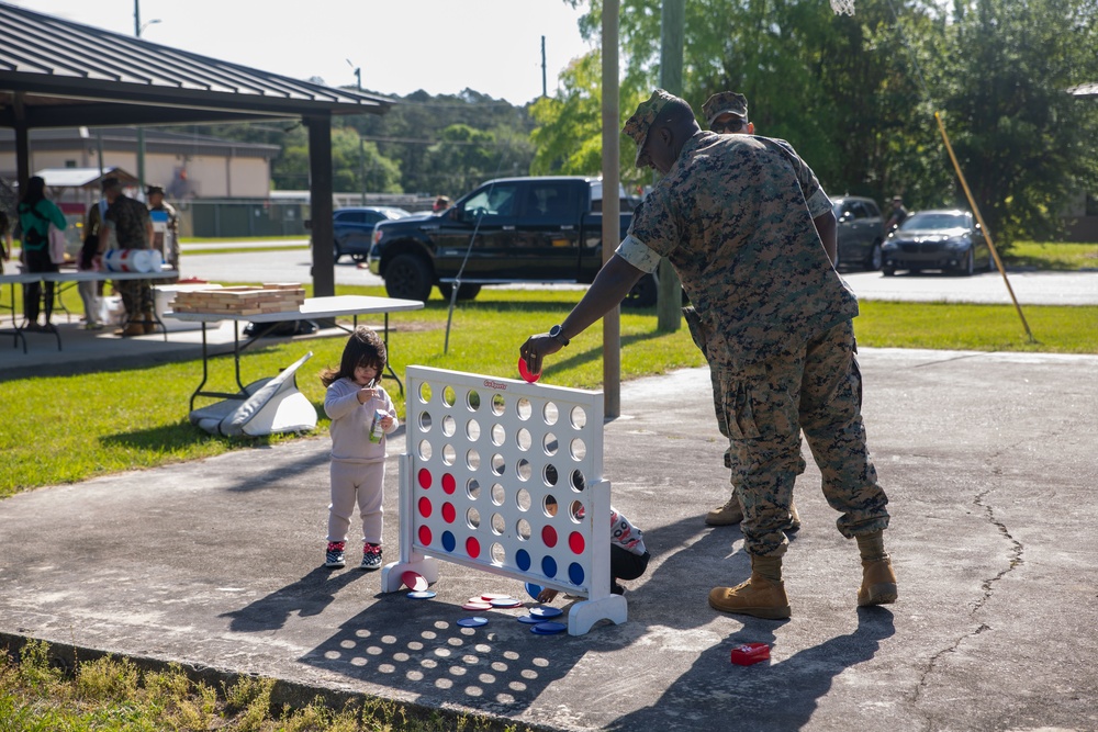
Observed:
[[[714,588],[710,606],[789,617],[782,525],[802,429],[828,504],[841,514],[839,531],[858,540],[858,604],[895,601],[883,539],[888,500],[861,418],[851,322],[858,301],[817,233],[821,226],[833,236],[834,219],[816,176],[788,143],[702,132],[690,105],[662,89],[638,108],[625,132],[637,140],[637,166],[656,167],[664,177],[580,304],[549,334],[523,345],[527,368],[540,370],[545,356],[567,346],[668,257],[702,323],[720,338],[713,363],[751,555],[750,579]]]

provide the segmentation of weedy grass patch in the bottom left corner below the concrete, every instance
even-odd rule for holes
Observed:
[[[0,730],[538,732],[488,714],[0,633]]]

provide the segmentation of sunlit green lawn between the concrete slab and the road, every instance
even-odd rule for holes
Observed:
[[[380,293],[377,288],[339,291]],[[530,333],[544,331],[563,318],[578,297],[571,291],[486,290],[480,299],[456,311],[448,354],[442,353],[446,303],[429,301],[423,311],[391,319],[396,329],[390,339],[394,368],[400,372],[416,363],[517,378],[518,346]],[[861,308],[854,333],[862,347],[1098,353],[1098,306],[1027,307],[1037,344],[1027,341],[1009,305],[864,302]],[[673,334],[658,333],[651,309],[624,312],[621,339],[621,372],[626,380],[704,364],[688,331],[681,328]],[[323,415],[324,390],[316,374],[338,363],[344,344],[341,335],[256,344],[242,360],[242,378],[247,383],[277,373],[305,351],[314,351],[314,358],[299,372],[298,384],[321,415],[313,435],[323,437],[327,419]],[[231,358],[215,359],[206,388],[236,391]],[[198,360],[90,372],[86,364],[74,364],[65,374],[5,382],[5,410],[34,418],[0,421],[0,451],[5,454],[0,498],[45,485],[77,483],[97,475],[294,439],[229,439],[191,426],[184,405],[200,373]],[[597,324],[589,328],[551,359],[544,379],[560,386],[600,388],[602,328]],[[404,398],[392,382],[386,386],[403,418]],[[148,394],[156,398],[148,398]]]

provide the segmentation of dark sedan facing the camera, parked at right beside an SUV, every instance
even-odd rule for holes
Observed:
[[[995,268],[979,224],[967,211],[942,209],[908,216],[881,247],[881,271],[890,277],[896,270],[919,272],[941,270],[972,275]]]

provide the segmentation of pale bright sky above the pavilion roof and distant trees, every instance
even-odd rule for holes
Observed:
[[[135,0],[4,0],[133,35]],[[332,87],[381,94],[473,89],[513,104],[551,95],[591,49],[564,0],[139,0],[146,41]],[[159,21],[152,23],[150,21]]]

